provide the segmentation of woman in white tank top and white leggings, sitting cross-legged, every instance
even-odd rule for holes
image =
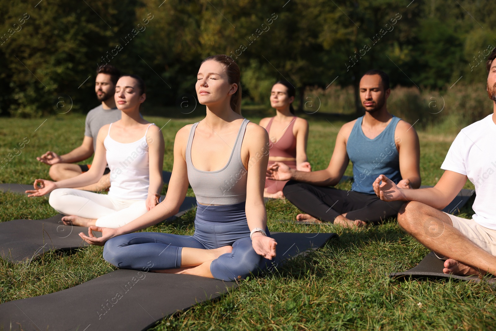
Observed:
[[[50,193],[50,205],[64,216],[64,224],[117,228],[153,208],[162,190],[164,138],[157,126],[140,113],[146,99],[143,80],[135,75],[119,78],[115,99],[122,119],[98,132],[90,169],[74,178],[52,182],[37,179],[29,197]],[[110,168],[108,195],[73,188],[95,184],[106,165]],[[38,187],[40,184],[40,187]]]

